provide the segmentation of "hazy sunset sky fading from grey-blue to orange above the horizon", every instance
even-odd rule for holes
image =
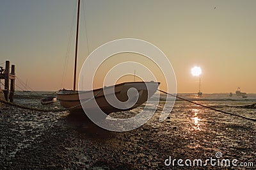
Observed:
[[[255,6],[254,0],[81,0],[77,76],[100,45],[137,38],[164,52],[175,72],[177,93],[198,92],[193,66],[202,68],[203,93],[234,93],[237,87],[256,93]],[[8,59],[15,64],[17,90],[24,89],[20,81],[33,90],[72,89],[76,8],[76,0],[0,0],[0,63]],[[107,72],[124,61],[147,65],[161,77],[138,54],[118,54],[100,69]],[[95,88],[101,86],[102,72]]]

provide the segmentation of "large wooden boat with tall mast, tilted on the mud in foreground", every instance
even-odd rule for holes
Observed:
[[[86,108],[86,111],[100,108],[106,114],[111,112],[118,111],[127,111],[130,109],[134,109],[135,107],[140,106],[144,102],[148,100],[148,98],[152,97],[154,93],[156,93],[157,88],[159,86],[159,82],[123,82],[120,84],[115,84],[113,86],[93,89],[89,91],[77,91],[76,90],[76,67],[77,67],[77,44],[78,44],[78,31],[79,31],[79,9],[80,9],[80,0],[78,0],[77,4],[77,31],[76,31],[76,52],[75,52],[75,65],[74,65],[74,86],[72,90],[61,89],[57,94],[57,98],[60,101],[60,104],[65,108],[70,108],[70,110],[81,110]],[[129,89],[135,88],[138,93],[134,96],[127,95]],[[93,96],[92,96],[93,94]],[[122,107],[126,109],[118,109],[113,105],[109,104],[108,97],[116,97],[120,102],[130,102],[134,105],[131,107]],[[80,98],[79,98],[80,97]],[[95,98],[95,100],[91,100]],[[136,101],[132,100],[132,98],[136,98]],[[131,100],[131,101],[130,101]],[[95,102],[96,101],[96,102]],[[83,105],[83,107],[82,107]]]

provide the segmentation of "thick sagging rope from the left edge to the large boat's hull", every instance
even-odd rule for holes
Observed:
[[[82,104],[85,104],[86,102],[89,102],[90,100],[92,100],[93,98],[97,97],[99,95],[99,93],[102,91],[103,89],[101,89],[96,95],[94,95],[92,98],[88,98],[87,100],[85,100]],[[63,111],[70,111],[72,109],[76,109],[77,107],[81,106],[82,104],[78,104],[75,105],[73,107],[68,107],[67,109],[38,109],[35,107],[28,107],[26,105],[19,105],[19,104],[15,104],[15,103],[11,103],[11,102],[7,102],[6,100],[2,100],[0,99],[1,103],[4,104],[8,104],[8,105],[12,105],[14,107],[19,107],[21,109],[28,109],[30,111],[40,111],[40,112],[63,112]]]

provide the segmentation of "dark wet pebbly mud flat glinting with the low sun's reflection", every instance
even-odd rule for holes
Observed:
[[[170,116],[159,122],[161,107],[140,128],[110,132],[84,114],[35,112],[6,105],[0,110],[0,169],[184,169],[177,161],[174,166],[164,162],[170,157],[172,161],[205,161],[216,158],[217,152],[221,153],[220,160],[237,159],[237,165],[253,162],[253,167],[227,169],[256,167],[255,122],[185,102],[177,102]],[[125,114],[131,116],[140,109]],[[255,118],[255,109],[222,109]],[[221,166],[208,163],[188,168]]]

